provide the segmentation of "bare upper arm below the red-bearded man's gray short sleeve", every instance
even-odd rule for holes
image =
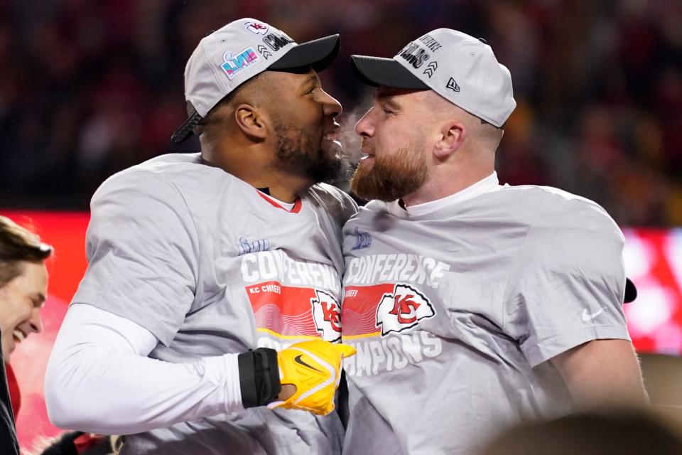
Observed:
[[[645,405],[642,370],[627,340],[592,340],[551,358],[575,407]]]

